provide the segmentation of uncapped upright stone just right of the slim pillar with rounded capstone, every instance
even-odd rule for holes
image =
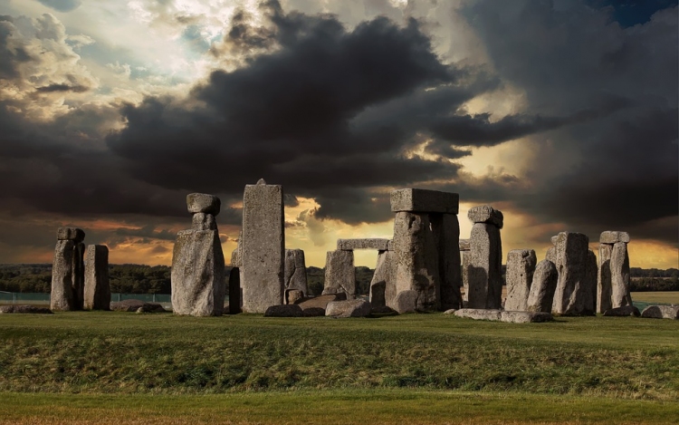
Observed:
[[[513,249],[507,254],[507,300],[504,309],[525,312],[538,257],[532,249]]]

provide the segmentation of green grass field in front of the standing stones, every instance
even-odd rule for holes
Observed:
[[[3,424],[679,418],[669,320],[3,314],[0,340]]]

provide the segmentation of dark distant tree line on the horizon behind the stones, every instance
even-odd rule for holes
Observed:
[[[230,267],[226,267],[228,276]],[[369,267],[356,267],[356,292],[370,293],[370,281],[375,271]],[[668,268],[630,269],[631,291],[679,291],[679,270]],[[170,267],[142,265],[110,265],[110,290],[122,294],[169,294]],[[325,269],[307,267],[307,285],[310,295],[323,292]],[[49,293],[52,286],[51,264],[0,265],[0,291],[18,293]]]

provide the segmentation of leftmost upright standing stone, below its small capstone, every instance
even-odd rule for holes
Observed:
[[[54,248],[50,308],[55,311],[71,311],[75,309],[72,288],[73,249],[75,244],[71,239],[60,239],[57,240]]]

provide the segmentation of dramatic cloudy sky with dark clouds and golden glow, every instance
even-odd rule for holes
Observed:
[[[265,179],[307,266],[430,188],[462,238],[500,209],[505,258],[623,230],[631,266],[679,267],[678,23],[676,0],[4,0],[0,263],[77,226],[170,265],[192,192],[221,198],[228,262]]]

